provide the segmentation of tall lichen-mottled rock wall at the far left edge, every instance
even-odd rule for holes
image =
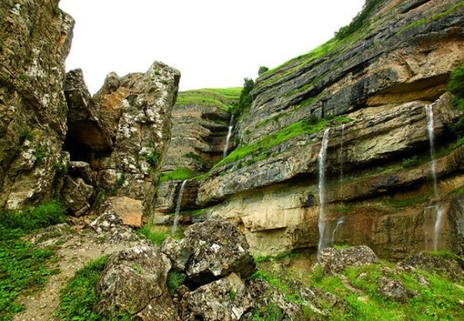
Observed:
[[[74,20],[56,0],[4,0],[0,17],[0,208],[19,208],[55,193]]]

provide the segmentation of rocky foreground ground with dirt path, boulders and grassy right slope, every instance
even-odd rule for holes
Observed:
[[[326,248],[317,264],[306,251],[253,258],[243,234],[219,218],[191,225],[183,239],[167,238],[158,248],[109,212],[29,240],[56,249],[52,264],[59,272],[39,292],[22,295],[26,309],[14,320],[56,318],[60,289],[102,255],[109,258],[95,285],[94,310],[110,319],[121,312],[147,321],[464,316],[464,261],[448,253],[419,253],[398,264],[365,246]],[[169,285],[172,274],[183,275],[176,288]]]

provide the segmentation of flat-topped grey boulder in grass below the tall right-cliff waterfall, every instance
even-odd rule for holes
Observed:
[[[362,267],[378,261],[377,255],[367,246],[350,248],[323,248],[319,255],[319,263],[325,274],[338,273],[346,267]]]

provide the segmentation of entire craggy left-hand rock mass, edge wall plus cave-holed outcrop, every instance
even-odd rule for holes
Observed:
[[[65,73],[74,20],[58,0],[0,4],[0,210],[62,196],[74,215],[110,195],[153,213],[180,73],[110,73],[91,97]]]

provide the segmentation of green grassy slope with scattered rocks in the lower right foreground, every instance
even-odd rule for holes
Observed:
[[[454,258],[450,253],[436,253],[440,258]],[[286,300],[296,302],[303,310],[303,320],[464,320],[464,310],[460,300],[464,295],[463,282],[450,282],[445,276],[434,275],[416,269],[412,272],[395,270],[395,265],[380,261],[372,265],[354,268],[348,267],[340,275],[324,275],[320,266],[306,273],[295,275],[294,268],[282,268],[283,258],[273,257],[268,260],[256,258],[259,267],[251,278],[266,280],[273,287],[283,292]],[[397,302],[380,295],[378,278],[380,276],[398,280],[417,295],[406,302]],[[428,280],[428,285],[420,283],[420,277]],[[358,292],[354,292],[350,287]],[[336,295],[343,300],[343,305],[329,305],[325,300],[318,301],[327,316],[323,317],[312,312],[306,306],[302,297],[295,295],[298,287],[318,287]],[[360,297],[364,297],[360,300]],[[263,307],[261,307],[261,311]],[[275,311],[274,311],[275,312]],[[253,310],[253,320],[267,320],[260,309]]]

